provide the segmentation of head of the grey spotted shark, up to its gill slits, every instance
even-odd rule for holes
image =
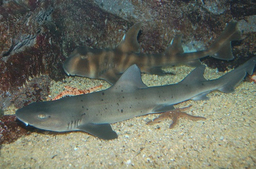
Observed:
[[[61,108],[54,108],[52,102],[32,103],[18,109],[15,114],[26,125],[44,130],[67,131],[67,123],[63,121],[63,116],[59,115]]]

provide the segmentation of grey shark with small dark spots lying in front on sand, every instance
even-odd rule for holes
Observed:
[[[26,125],[65,132],[84,131],[102,139],[115,139],[111,124],[136,116],[174,110],[187,100],[207,100],[212,90],[232,92],[246,73],[252,74],[253,57],[236,69],[214,80],[204,78],[205,65],[191,71],[176,84],[147,87],[136,64],[127,68],[110,88],[70,96],[55,101],[37,102],[20,108],[16,116]]]

